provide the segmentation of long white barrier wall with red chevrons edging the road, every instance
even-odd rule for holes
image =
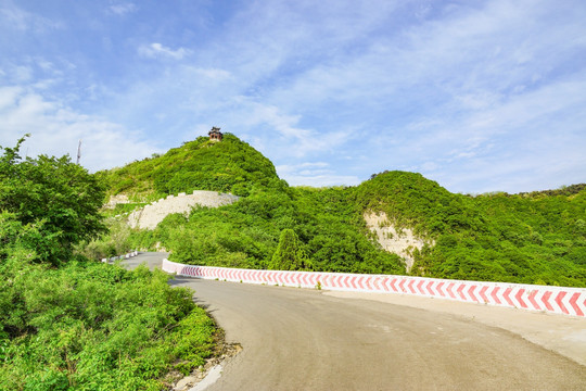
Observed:
[[[553,314],[585,316],[586,289],[506,282],[461,281],[392,275],[282,272],[193,266],[163,261],[164,272],[204,279],[282,285],[339,291],[400,293]]]

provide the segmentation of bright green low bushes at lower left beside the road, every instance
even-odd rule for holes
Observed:
[[[162,272],[11,256],[0,273],[1,390],[162,390],[212,352],[212,319]]]

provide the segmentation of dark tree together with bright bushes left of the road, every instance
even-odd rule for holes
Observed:
[[[0,155],[0,389],[162,390],[214,346],[187,289],[75,248],[106,235],[105,188],[68,157]]]

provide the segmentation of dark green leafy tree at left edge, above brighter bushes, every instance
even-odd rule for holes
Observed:
[[[34,224],[41,232],[38,261],[59,264],[76,243],[105,229],[99,213],[104,188],[69,156],[23,160],[18,152],[26,137],[14,148],[0,146],[0,212],[23,226]]]

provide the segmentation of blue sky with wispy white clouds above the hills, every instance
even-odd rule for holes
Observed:
[[[94,172],[219,126],[290,185],[585,182],[585,21],[583,0],[0,0],[0,144],[81,139]]]

